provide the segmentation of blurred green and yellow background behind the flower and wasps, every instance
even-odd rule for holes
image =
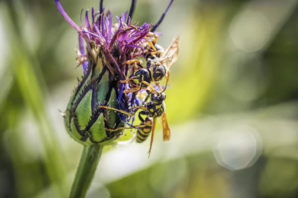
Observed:
[[[156,22],[169,0],[138,0]],[[297,198],[298,0],[175,0],[157,29],[180,35],[166,114],[149,141],[106,148],[88,198]],[[61,0],[79,24],[99,0]],[[130,0],[105,0],[113,15]],[[116,22],[116,18],[114,17]],[[67,197],[82,146],[64,111],[82,68],[54,0],[0,1],[0,198]]]

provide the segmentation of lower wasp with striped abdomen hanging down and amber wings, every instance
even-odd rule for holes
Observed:
[[[119,110],[116,108],[112,108],[109,106],[99,106],[100,108],[106,108],[110,110],[119,111],[121,113],[124,113],[129,116],[133,116],[139,108],[143,109],[139,112],[139,119],[141,120],[141,124],[134,126],[134,128],[137,128],[137,134],[136,134],[136,142],[142,143],[144,142],[150,132],[151,132],[151,142],[150,142],[150,148],[149,148],[149,156],[152,148],[152,143],[154,139],[154,132],[155,132],[155,125],[156,125],[156,118],[161,117],[162,120],[162,129],[163,129],[163,141],[168,141],[170,139],[170,128],[167,123],[166,115],[165,115],[165,103],[164,100],[166,98],[165,94],[163,92],[150,92],[149,90],[146,90],[148,97],[146,97],[145,101],[149,98],[148,102],[144,102],[145,105],[135,106],[131,109],[130,112],[126,112],[124,110]],[[147,117],[144,119],[142,116],[146,115]],[[132,127],[120,127],[116,129],[106,129],[108,131],[118,131],[120,129],[131,129]]]

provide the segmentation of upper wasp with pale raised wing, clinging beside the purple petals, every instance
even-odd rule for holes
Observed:
[[[156,37],[152,35],[153,38]],[[128,79],[121,80],[121,83],[131,82],[136,87],[125,90],[125,92],[137,92],[142,90],[142,88],[150,87],[151,90],[157,92],[151,85],[151,82],[158,82],[162,80],[163,77],[166,77],[166,82],[163,90],[166,89],[169,77],[170,77],[170,68],[177,60],[177,56],[179,53],[179,37],[176,37],[173,42],[169,45],[167,49],[163,51],[161,47],[159,47],[156,43],[157,39],[153,39],[151,44],[155,44],[157,49],[154,46],[150,46],[153,48],[153,52],[149,52],[149,50],[145,50],[143,56],[147,58],[146,68],[140,64],[140,60],[132,59],[128,60],[126,64],[136,63],[140,69],[136,70]],[[158,57],[159,56],[159,57]],[[153,59],[151,59],[153,57]]]

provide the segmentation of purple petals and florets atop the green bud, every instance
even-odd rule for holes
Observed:
[[[86,74],[89,65],[86,58],[88,52],[86,53],[84,51],[83,39],[86,42],[86,49],[89,51],[93,61],[96,61],[95,59],[100,54],[101,57],[104,57],[105,64],[112,74],[120,76],[122,80],[125,79],[125,73],[127,73],[123,63],[129,59],[138,57],[140,53],[133,53],[133,51],[136,48],[142,48],[142,44],[147,41],[146,36],[150,31],[155,31],[172,2],[173,0],[170,1],[166,11],[155,25],[151,26],[149,23],[144,23],[141,26],[137,26],[138,24],[131,24],[136,0],[132,0],[129,14],[126,11],[122,16],[117,17],[118,23],[116,24],[112,24],[112,13],[110,10],[106,15],[104,14],[103,0],[100,0],[100,9],[95,12],[94,8],[92,8],[90,20],[89,10],[86,10],[84,17],[82,16],[83,9],[81,10],[81,25],[79,27],[65,12],[59,0],[55,0],[63,17],[79,33],[79,52],[77,59],[79,64],[83,65],[84,74]]]

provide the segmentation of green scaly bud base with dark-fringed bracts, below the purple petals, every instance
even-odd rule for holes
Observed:
[[[93,65],[93,70],[88,70],[78,81],[67,105],[65,126],[71,137],[84,145],[111,144],[122,130],[110,132],[106,128],[122,127],[124,123],[117,112],[99,106],[118,107],[120,82],[102,66],[102,58],[97,58],[96,64],[92,64],[92,60],[89,64]]]

